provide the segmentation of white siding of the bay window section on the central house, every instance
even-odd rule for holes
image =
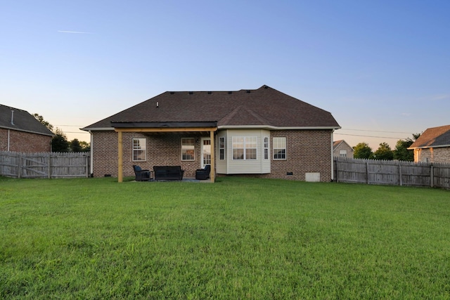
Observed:
[[[257,159],[233,159],[233,136],[255,136],[257,138]],[[225,138],[225,159],[220,160],[219,138]],[[264,137],[269,138],[269,159],[264,159]],[[268,174],[271,164],[270,131],[224,130],[217,133],[217,173],[218,174]]]

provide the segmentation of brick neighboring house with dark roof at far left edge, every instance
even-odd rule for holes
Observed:
[[[53,136],[29,112],[0,104],[0,150],[50,152]]]

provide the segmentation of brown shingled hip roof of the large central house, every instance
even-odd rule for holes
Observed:
[[[219,128],[340,128],[330,112],[262,86],[256,90],[240,91],[167,91],[83,130],[192,124]]]

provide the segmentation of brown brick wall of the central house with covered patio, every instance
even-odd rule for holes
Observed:
[[[105,174],[117,176],[117,133],[115,131],[94,132],[91,145],[94,157],[94,176]],[[331,181],[331,131],[297,130],[271,131],[271,138],[284,136],[287,141],[287,159],[272,160],[271,174],[252,175],[259,178],[283,178],[305,180],[305,173],[319,172],[321,181]],[[195,161],[181,161],[181,138],[195,138]],[[132,138],[146,138],[147,160],[132,162]],[[217,147],[217,143],[214,143]],[[133,164],[142,169],[153,166],[180,165],[185,170],[185,177],[195,177],[195,170],[200,168],[200,135],[167,133],[147,134],[122,133],[123,175],[134,176]],[[217,159],[217,157],[216,157]],[[287,175],[292,172],[293,175]]]

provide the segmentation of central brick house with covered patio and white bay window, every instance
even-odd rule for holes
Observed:
[[[216,174],[330,181],[330,112],[262,86],[240,91],[167,91],[86,126],[93,176],[134,175],[132,165],[181,165],[185,177]]]

